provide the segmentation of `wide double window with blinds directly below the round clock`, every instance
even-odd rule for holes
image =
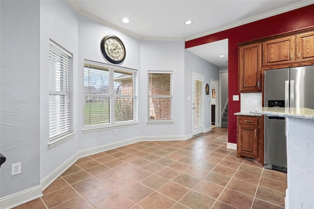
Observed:
[[[136,122],[136,72],[85,60],[85,128]]]

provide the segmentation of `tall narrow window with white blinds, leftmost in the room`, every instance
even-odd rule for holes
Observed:
[[[71,62],[72,54],[50,41],[49,44],[49,139],[72,132]]]

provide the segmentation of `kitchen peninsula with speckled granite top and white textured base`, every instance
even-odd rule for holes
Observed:
[[[287,117],[288,188],[285,208],[314,209],[314,110],[263,107],[250,113]]]

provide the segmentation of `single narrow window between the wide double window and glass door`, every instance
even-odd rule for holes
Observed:
[[[148,120],[172,120],[172,72],[149,71],[148,83]]]

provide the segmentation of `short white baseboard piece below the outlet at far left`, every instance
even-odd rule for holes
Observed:
[[[11,209],[43,196],[42,186],[34,186],[0,198],[0,209]]]

